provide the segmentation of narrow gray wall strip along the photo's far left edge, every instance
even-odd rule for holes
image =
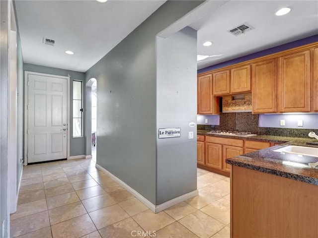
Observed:
[[[8,1],[0,1],[0,235],[8,237],[7,129],[8,129]],[[4,231],[2,230],[4,224]]]

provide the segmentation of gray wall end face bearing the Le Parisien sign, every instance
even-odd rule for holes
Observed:
[[[181,128],[181,137],[157,137],[158,204],[197,188],[197,130],[189,127],[197,114],[196,57],[197,32],[190,27],[167,39],[157,37],[157,131]]]

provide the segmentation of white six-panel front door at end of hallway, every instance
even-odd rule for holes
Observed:
[[[28,163],[67,158],[67,78],[28,73]]]

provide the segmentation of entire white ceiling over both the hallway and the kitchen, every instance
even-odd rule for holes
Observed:
[[[16,0],[23,60],[85,72],[164,2]],[[212,10],[206,10],[208,4],[194,9],[196,21],[189,26],[198,30],[198,54],[222,56],[199,61],[199,69],[318,34],[317,0],[224,0],[213,4],[217,7]],[[291,6],[292,11],[275,16],[283,6]],[[208,13],[198,16],[202,12]],[[239,36],[227,32],[241,23],[254,29]],[[43,44],[43,37],[55,40],[55,46]],[[202,46],[205,41],[213,45]],[[75,55],[66,55],[66,50]]]

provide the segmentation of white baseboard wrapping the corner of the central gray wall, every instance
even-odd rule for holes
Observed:
[[[164,203],[161,203],[160,205],[155,205],[152,202],[150,202],[147,198],[145,198],[143,195],[141,195],[139,192],[137,192],[135,189],[127,185],[124,181],[121,179],[118,179],[116,176],[114,176],[112,173],[110,173],[108,170],[104,169],[100,165],[95,165],[97,169],[100,169],[101,171],[105,172],[109,177],[114,179],[116,182],[118,182],[120,185],[122,185],[127,191],[129,191],[131,194],[133,194],[138,200],[140,200],[142,203],[144,203],[150,210],[152,210],[154,213],[158,213],[160,211],[163,211],[164,209],[167,209],[168,207],[171,207],[179,202],[182,202],[186,199],[189,199],[191,197],[199,195],[198,190],[194,190],[192,192],[188,192],[186,194],[183,194],[179,197],[173,198],[169,201],[166,201]]]

